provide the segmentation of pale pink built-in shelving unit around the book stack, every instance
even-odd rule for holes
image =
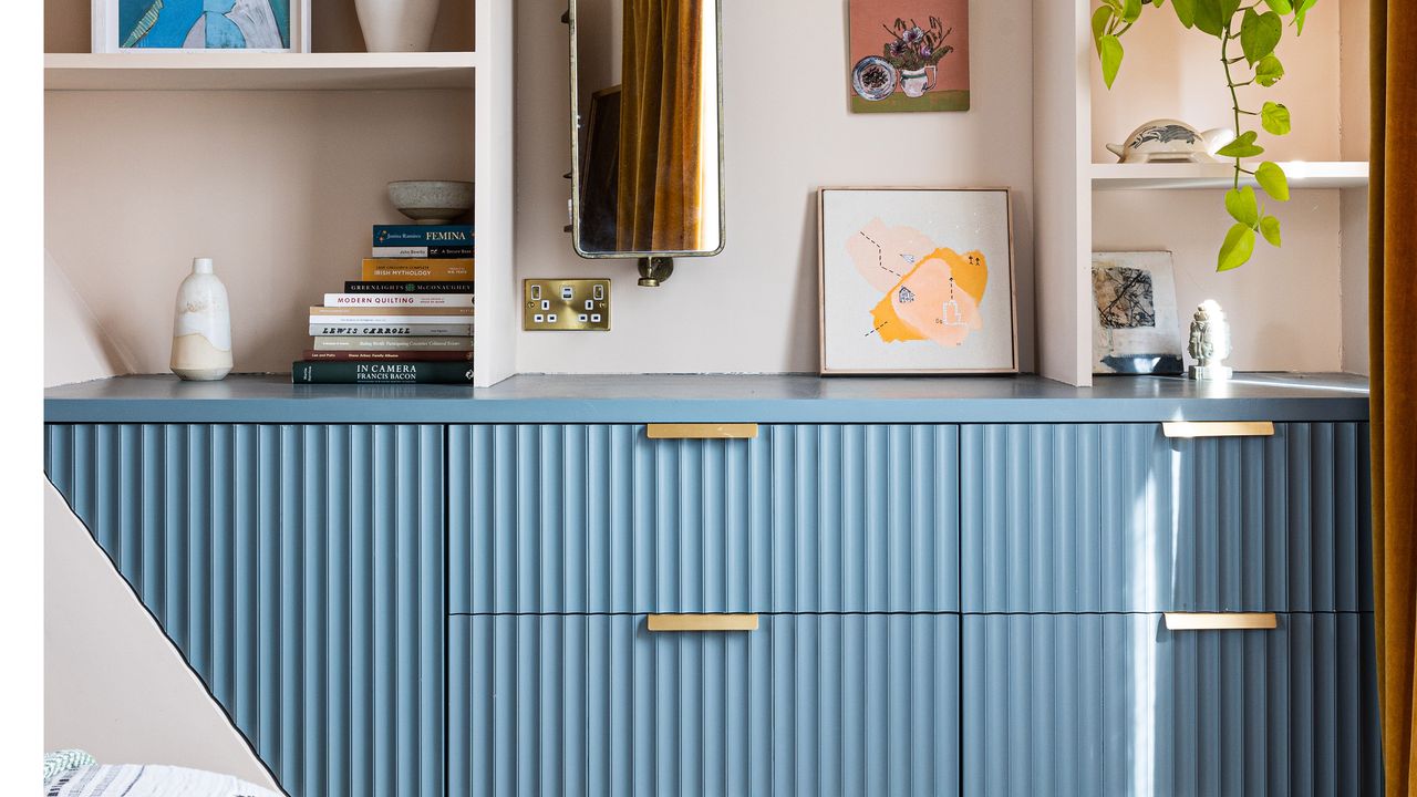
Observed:
[[[173,292],[213,257],[237,370],[289,372],[370,225],[405,221],[387,183],[448,179],[476,183],[475,383],[512,376],[513,9],[444,0],[425,52],[364,52],[346,0],[316,3],[312,52],[91,54],[88,0],[45,0],[45,250],[120,367],[166,370]]]

